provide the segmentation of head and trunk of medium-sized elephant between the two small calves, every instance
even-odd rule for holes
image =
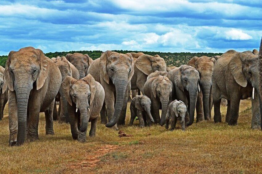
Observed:
[[[166,76],[159,75],[152,82],[151,90],[154,95],[154,98],[159,99],[161,102],[162,114],[160,125],[164,125],[167,115],[167,107],[169,101],[171,100],[173,84]]]

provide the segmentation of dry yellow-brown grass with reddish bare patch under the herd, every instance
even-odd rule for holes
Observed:
[[[133,137],[98,124],[94,138],[78,143],[68,124],[54,123],[46,136],[44,116],[40,140],[9,147],[7,110],[0,122],[0,173],[261,173],[262,132],[251,130],[251,102],[241,102],[237,126],[213,121],[194,123],[182,132],[164,127],[120,127]],[[7,108],[6,108],[7,109]],[[226,107],[222,107],[224,122]],[[130,112],[127,112],[126,123]],[[138,123],[136,122],[138,125]]]

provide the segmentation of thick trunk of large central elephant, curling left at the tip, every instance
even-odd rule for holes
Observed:
[[[113,127],[117,122],[120,117],[124,99],[125,99],[125,92],[128,84],[128,71],[126,70],[118,70],[115,73],[116,75],[116,80],[114,83],[116,87],[116,105],[115,105],[115,111],[110,118],[110,121],[106,124],[106,127]]]

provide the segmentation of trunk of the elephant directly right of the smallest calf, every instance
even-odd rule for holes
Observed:
[[[196,103],[197,103],[197,95],[198,91],[196,87],[190,87],[189,91],[189,98],[190,98],[190,108],[189,108],[189,123],[188,126],[192,125],[194,122],[194,117],[195,117],[195,108],[196,108]]]

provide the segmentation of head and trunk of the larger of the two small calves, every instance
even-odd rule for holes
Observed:
[[[149,116],[151,122],[154,123],[154,119],[151,115],[151,100],[146,95],[137,96],[137,100],[135,102],[135,107],[140,111],[146,111]]]

